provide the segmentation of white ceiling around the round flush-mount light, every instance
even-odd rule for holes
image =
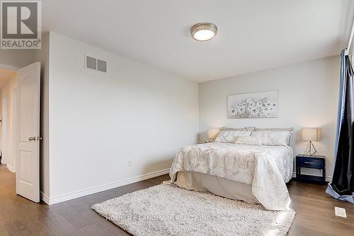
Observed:
[[[350,0],[45,0],[53,30],[198,82],[331,55],[346,47]],[[190,27],[212,22],[207,42]]]

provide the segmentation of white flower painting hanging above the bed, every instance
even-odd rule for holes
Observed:
[[[229,119],[278,117],[278,91],[227,96]]]

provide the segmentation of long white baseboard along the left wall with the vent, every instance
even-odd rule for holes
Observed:
[[[79,198],[81,196],[86,196],[86,195],[90,195],[90,194],[93,194],[93,193],[106,191],[108,189],[115,189],[115,188],[118,188],[120,186],[136,183],[138,181],[143,181],[145,179],[151,179],[151,178],[154,178],[156,176],[160,176],[160,175],[163,175],[163,174],[168,174],[169,171],[170,171],[170,169],[162,169],[162,170],[157,171],[157,172],[152,172],[152,173],[149,173],[149,174],[143,174],[143,175],[132,177],[132,178],[129,178],[129,179],[124,179],[122,181],[118,181],[118,182],[115,182],[115,183],[103,184],[101,186],[96,186],[96,187],[90,188],[90,189],[83,189],[81,191],[74,191],[72,193],[67,193],[67,194],[63,194],[61,196],[55,196],[55,197],[52,197],[52,198],[48,198],[48,196],[46,196],[44,193],[41,192],[40,193],[40,198],[42,199],[42,201],[44,201],[48,205],[52,205],[52,204],[55,204],[55,203],[61,203],[63,201],[68,201],[68,200],[71,200],[71,199],[74,199],[74,198]]]

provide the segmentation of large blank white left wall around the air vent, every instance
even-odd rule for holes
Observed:
[[[86,53],[108,60],[108,73],[84,69]],[[168,169],[197,142],[196,82],[56,33],[49,61],[53,202]]]

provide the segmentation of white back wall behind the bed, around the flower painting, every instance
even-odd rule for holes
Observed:
[[[258,128],[294,127],[294,154],[307,145],[300,137],[302,127],[320,127],[322,139],[315,142],[326,155],[326,175],[333,172],[334,138],[339,86],[339,57],[268,69],[199,84],[200,142],[210,127]],[[228,119],[227,96],[256,91],[278,90],[278,118]]]

